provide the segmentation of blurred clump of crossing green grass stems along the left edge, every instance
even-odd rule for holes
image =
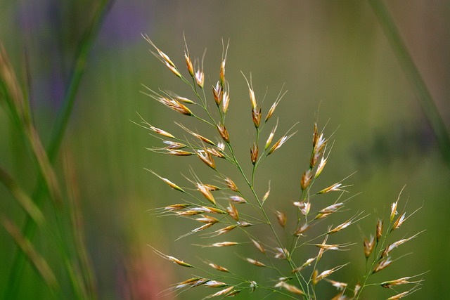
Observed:
[[[0,181],[25,211],[25,225],[22,230],[9,216],[0,214],[1,223],[18,246],[17,251],[11,255],[11,273],[6,278],[8,284],[4,291],[4,299],[18,299],[20,287],[23,285],[26,261],[37,271],[44,281],[44,286],[49,287],[51,295],[56,299],[63,297],[62,285],[65,283],[62,281],[65,280],[70,282],[72,296],[75,299],[96,299],[94,275],[81,230],[81,212],[74,197],[76,187],[69,180],[72,176],[71,162],[66,155],[67,176],[63,181],[68,183],[67,191],[60,188],[63,183],[56,175],[53,164],[58,156],[79,84],[86,70],[86,60],[110,4],[111,1],[108,0],[96,3],[93,18],[86,27],[84,37],[79,41],[65,96],[47,146],[44,146],[41,136],[34,127],[27,90],[30,82],[20,84],[6,50],[0,44],[0,104],[8,112],[16,132],[22,137],[24,148],[29,151],[36,167],[36,187],[31,195],[28,195],[4,167],[0,167]],[[27,74],[24,77],[26,78]],[[43,211],[46,200],[51,200],[52,203],[50,214]],[[48,262],[49,259],[42,256],[35,247],[33,239],[37,230],[45,232],[50,237],[46,242],[52,244],[51,247],[56,247],[54,252],[58,253],[60,265],[64,266],[63,270],[67,275],[65,280],[56,276],[56,271]],[[65,294],[64,297],[72,296]]]

